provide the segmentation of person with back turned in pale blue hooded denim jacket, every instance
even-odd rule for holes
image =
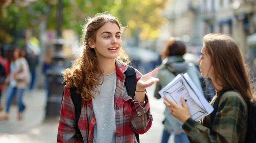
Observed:
[[[162,53],[163,62],[159,67],[157,78],[160,81],[156,85],[154,97],[160,99],[161,96],[158,93],[167,84],[169,84],[177,74],[188,73],[189,77],[193,80],[199,91],[202,92],[198,72],[193,63],[187,62],[183,55],[186,54],[187,47],[183,41],[179,38],[171,37],[166,44],[166,48]],[[168,143],[171,134],[175,134],[175,143],[189,143],[188,137],[185,132],[180,128],[182,123],[172,117],[169,113],[169,108],[165,109],[165,120],[163,121],[164,130],[161,143]]]

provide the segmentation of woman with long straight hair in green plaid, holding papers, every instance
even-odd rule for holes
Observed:
[[[224,34],[207,34],[203,43],[198,63],[202,76],[210,77],[217,91],[210,104],[218,108],[204,117],[201,125],[190,117],[184,99],[183,107],[166,97],[165,104],[183,123],[191,143],[245,143],[249,130],[247,103],[255,97],[242,54],[237,43]]]

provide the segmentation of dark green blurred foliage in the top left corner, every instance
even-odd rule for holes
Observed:
[[[0,4],[0,45],[14,43],[16,46],[25,44],[24,29],[37,27],[44,19],[46,8],[52,3],[49,0],[1,0]],[[34,2],[34,3],[32,3]],[[37,7],[44,6],[44,9]],[[32,7],[30,7],[32,6]],[[34,9],[35,8],[35,9]]]

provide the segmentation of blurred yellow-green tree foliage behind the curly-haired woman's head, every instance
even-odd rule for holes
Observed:
[[[118,17],[125,34],[134,36],[140,32],[141,39],[158,37],[159,26],[165,22],[161,16],[168,0],[63,0],[63,28],[75,29],[81,34],[81,24],[87,17],[108,11]],[[48,28],[55,29],[57,7],[48,18]]]

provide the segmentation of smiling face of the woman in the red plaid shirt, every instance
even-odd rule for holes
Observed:
[[[108,22],[96,33],[96,41],[89,43],[101,60],[115,59],[122,46],[121,32],[116,23]]]

